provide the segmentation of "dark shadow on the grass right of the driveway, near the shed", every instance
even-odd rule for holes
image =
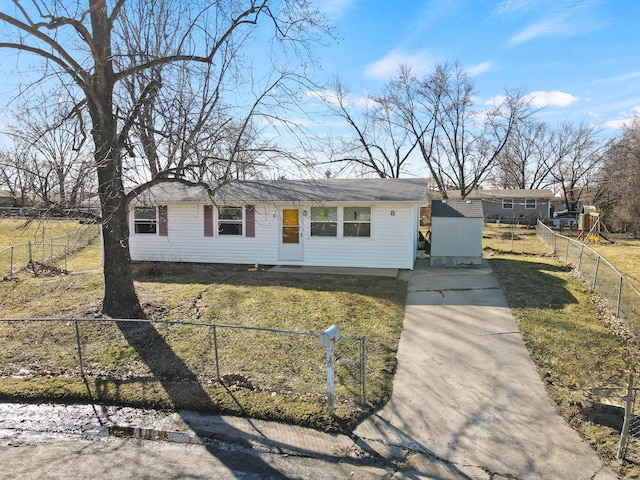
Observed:
[[[563,309],[578,299],[559,276],[570,267],[528,260],[492,258],[489,264],[510,307]]]

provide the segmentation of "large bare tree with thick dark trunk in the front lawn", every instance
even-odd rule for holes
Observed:
[[[147,31],[159,34],[154,48],[132,50],[123,41],[134,25],[133,12],[139,12],[136,19],[153,18]],[[224,64],[224,56],[252,32],[292,44],[303,55],[322,31],[320,17],[306,0],[14,0],[0,12],[0,21],[5,27],[0,48],[41,59],[42,78],[67,82],[64,87],[77,99],[73,110],[88,111],[105,258],[102,309],[115,318],[143,317],[130,265],[123,159],[135,156],[134,125],[142,124],[145,107],[168,85],[163,70]],[[142,80],[127,97],[125,81],[133,77]],[[164,179],[158,171],[147,186]]]

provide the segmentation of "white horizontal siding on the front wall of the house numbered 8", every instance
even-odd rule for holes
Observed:
[[[361,207],[362,205],[355,205]],[[169,235],[134,235],[130,237],[133,260],[259,263],[277,265],[280,241],[280,215],[291,205],[255,206],[255,237],[203,234],[204,205],[168,204]],[[332,206],[333,207],[333,206]],[[311,235],[311,205],[300,206],[303,260],[295,265],[404,268],[412,269],[418,238],[417,204],[376,204],[370,206],[370,236],[341,236],[343,205],[338,212],[338,236]],[[347,205],[348,207],[348,205]],[[217,232],[217,214],[215,231]]]

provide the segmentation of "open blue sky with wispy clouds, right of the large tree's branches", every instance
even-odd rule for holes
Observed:
[[[638,0],[317,0],[341,40],[318,51],[352,95],[405,63],[458,61],[478,102],[520,90],[542,120],[620,128],[640,114]]]

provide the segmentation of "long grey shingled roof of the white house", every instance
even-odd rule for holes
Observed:
[[[425,179],[375,178],[233,181],[209,188],[163,182],[141,193],[137,203],[426,203],[427,200]]]

